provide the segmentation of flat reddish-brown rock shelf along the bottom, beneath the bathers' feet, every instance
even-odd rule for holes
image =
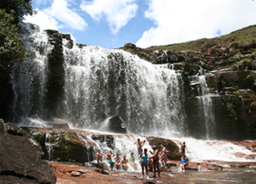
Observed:
[[[52,162],[52,168],[57,177],[57,183],[230,183],[223,178],[204,178],[206,175],[218,177],[220,174],[229,175],[244,172],[246,174],[256,173],[256,161],[241,162],[221,162],[202,161],[191,162],[185,172],[179,172],[177,160],[168,161],[168,169],[160,169],[160,178],[153,178],[153,173],[149,172],[150,179],[141,178],[139,171],[110,171],[87,167],[81,164],[56,163]],[[172,165],[171,167],[169,167]],[[209,172],[211,171],[211,172]],[[247,173],[245,173],[247,172]],[[248,176],[249,177],[249,176]],[[233,177],[233,180],[235,178]],[[242,179],[242,178],[240,178]],[[236,182],[240,182],[238,178]],[[254,177],[247,180],[247,183],[254,183]]]

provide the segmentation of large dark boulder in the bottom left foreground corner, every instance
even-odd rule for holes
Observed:
[[[56,183],[52,165],[42,156],[42,147],[24,129],[0,120],[2,183]]]

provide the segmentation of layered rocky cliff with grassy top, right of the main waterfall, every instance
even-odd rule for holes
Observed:
[[[200,93],[195,76],[204,75],[212,94],[216,137],[242,140],[256,138],[256,26],[212,39],[152,46],[141,49],[132,43],[127,50],[153,64],[168,64],[182,72],[186,89],[187,130],[195,138],[205,131],[200,123]]]

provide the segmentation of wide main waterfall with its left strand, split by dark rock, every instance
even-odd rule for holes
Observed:
[[[48,120],[48,58],[53,46],[45,32],[26,35],[35,58],[25,62],[25,72],[13,73],[14,112],[20,117]],[[81,46],[62,39],[64,95],[55,110],[74,129],[100,129],[118,115],[132,134],[181,136],[183,113],[181,73],[165,65],[150,64],[124,50]]]

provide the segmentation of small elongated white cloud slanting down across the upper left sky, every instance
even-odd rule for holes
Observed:
[[[88,26],[80,15],[68,8],[66,0],[54,0],[52,7],[43,11],[64,23],[65,27],[82,31]]]

